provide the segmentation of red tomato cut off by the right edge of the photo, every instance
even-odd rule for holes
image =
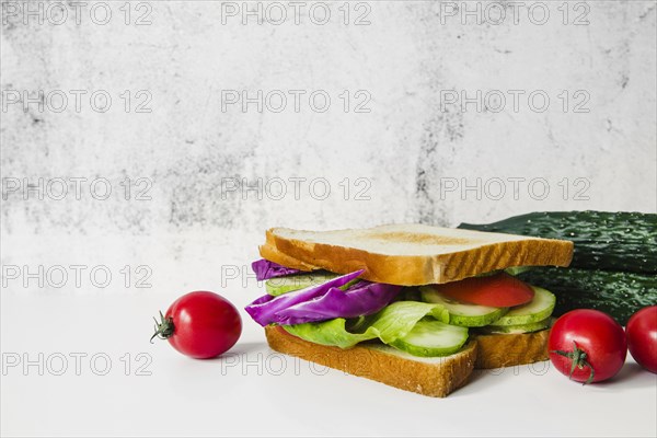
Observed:
[[[638,365],[657,373],[657,306],[634,313],[627,326],[627,348]]]

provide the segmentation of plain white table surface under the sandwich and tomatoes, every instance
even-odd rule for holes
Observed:
[[[257,291],[224,293],[243,307]],[[3,436],[656,436],[657,376],[629,358],[603,384],[549,362],[475,372],[431,399],[268,349],[242,312],[229,357],[194,360],[148,339],[168,295],[3,295]],[[38,364],[24,370],[7,361]],[[80,356],[79,376],[71,354]],[[126,353],[131,367],[126,376]],[[137,361],[137,355],[141,361]],[[96,356],[95,368],[90,359]],[[9,355],[9,356],[8,356]],[[61,356],[68,368],[61,376]],[[106,355],[106,356],[105,356]],[[10,357],[11,356],[11,357]],[[105,376],[105,358],[112,366]],[[122,360],[123,358],[123,360]],[[137,376],[136,367],[152,361]],[[284,368],[285,367],[285,368]],[[545,368],[548,367],[548,368]]]

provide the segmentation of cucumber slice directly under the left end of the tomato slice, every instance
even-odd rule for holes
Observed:
[[[430,286],[423,286],[419,291],[423,301],[442,304],[449,312],[449,323],[461,327],[488,325],[499,320],[508,310],[507,308],[491,308],[452,300]]]

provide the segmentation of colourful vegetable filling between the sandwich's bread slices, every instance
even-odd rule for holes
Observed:
[[[518,334],[550,327],[555,297],[515,278],[519,268],[443,285],[403,287],[302,272],[261,260],[253,270],[267,295],[246,312],[314,344],[350,348],[383,343],[419,357],[457,353],[472,333]]]

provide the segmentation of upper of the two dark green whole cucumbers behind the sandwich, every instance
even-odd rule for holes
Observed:
[[[459,228],[573,241],[573,267],[657,273],[654,214],[530,212],[487,224],[461,223]]]

